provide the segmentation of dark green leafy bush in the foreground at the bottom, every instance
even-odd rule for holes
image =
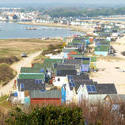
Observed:
[[[67,106],[36,107],[30,113],[17,108],[6,122],[8,125],[84,125],[82,110]]]

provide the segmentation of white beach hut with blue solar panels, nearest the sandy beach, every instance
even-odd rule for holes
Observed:
[[[117,94],[114,84],[79,84],[77,90],[78,103],[87,99],[91,104],[97,104],[99,101],[104,102],[107,94]]]

